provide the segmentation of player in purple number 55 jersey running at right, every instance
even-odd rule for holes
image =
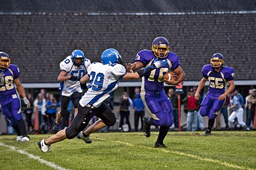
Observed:
[[[221,110],[226,96],[234,90],[234,69],[231,67],[222,66],[224,57],[220,53],[215,53],[211,56],[210,64],[206,64],[202,68],[203,78],[199,82],[195,99],[199,99],[199,92],[207,80],[209,80],[208,92],[203,98],[199,113],[201,116],[208,116],[208,128],[203,135],[211,135],[211,128],[213,128],[217,112]],[[229,88],[227,88],[229,83]],[[227,89],[227,90],[226,90]]]

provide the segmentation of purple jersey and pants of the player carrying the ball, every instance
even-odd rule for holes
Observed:
[[[165,67],[157,68],[142,78],[141,99],[157,126],[171,127],[173,106],[163,90],[163,75],[179,67],[179,58],[174,52],[169,51],[165,59],[168,62]],[[151,65],[156,60],[150,50],[139,51],[135,58],[135,62],[141,62],[143,67]]]

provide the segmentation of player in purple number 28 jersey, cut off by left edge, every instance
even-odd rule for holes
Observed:
[[[25,122],[21,115],[19,94],[22,96],[27,108],[29,108],[30,102],[26,98],[25,89],[19,80],[19,68],[11,64],[11,59],[6,52],[0,52],[0,106],[11,126],[17,131],[17,140],[29,141]]]

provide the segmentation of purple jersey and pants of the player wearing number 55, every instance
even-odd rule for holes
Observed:
[[[227,88],[227,82],[234,79],[235,72],[231,67],[222,66],[219,72],[214,71],[210,64],[203,66],[203,77],[209,80],[208,92],[203,98],[200,108],[201,116],[207,116],[209,119],[215,118],[215,112],[221,110],[225,100],[219,100],[219,96],[224,94]]]

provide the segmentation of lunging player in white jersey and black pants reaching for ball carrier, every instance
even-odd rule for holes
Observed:
[[[101,62],[94,62],[88,68],[88,74],[81,79],[81,87],[86,87],[86,82],[90,80],[90,87],[79,101],[78,114],[66,129],[59,131],[57,134],[43,139],[38,142],[42,152],[50,151],[50,145],[64,139],[73,139],[80,136],[86,143],[88,142],[90,133],[98,131],[106,126],[114,126],[116,118],[106,103],[103,103],[117,87],[121,79],[139,79],[155,68],[166,66],[167,60],[159,60],[138,72],[126,73],[125,67],[122,65],[121,55],[113,48],[103,51]],[[81,132],[90,122],[93,116],[100,118],[92,126]],[[79,133],[81,132],[81,133]]]

